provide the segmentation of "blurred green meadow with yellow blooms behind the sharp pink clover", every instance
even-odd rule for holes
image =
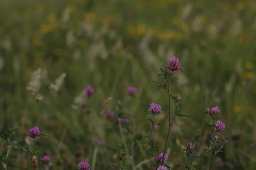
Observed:
[[[99,139],[122,148],[114,121],[99,115],[108,97],[108,109],[117,99],[126,106],[134,132],[150,133],[143,111],[157,102],[163,150],[168,96],[151,80],[163,83],[159,68],[175,55],[186,76],[177,72],[172,91],[186,99],[182,113],[193,120],[177,119],[169,146],[209,132],[201,113],[219,106],[230,148],[223,167],[213,169],[255,169],[255,38],[255,0],[0,0],[0,125],[4,114],[14,114],[10,123],[25,145],[22,135],[38,126],[48,136],[36,140],[38,154],[51,156],[53,170],[70,170],[81,160],[91,163]],[[90,99],[82,95],[87,85],[95,90]],[[127,96],[129,86],[138,88],[136,97]],[[37,103],[38,95],[44,98]],[[10,157],[19,170],[32,168],[22,150]],[[107,147],[97,158],[94,170],[118,163]],[[137,151],[135,164],[144,159]],[[181,151],[172,152],[168,164],[183,170],[184,161]]]

